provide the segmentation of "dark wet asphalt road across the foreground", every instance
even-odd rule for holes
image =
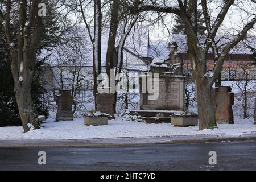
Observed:
[[[46,165],[38,152],[46,152]],[[210,165],[209,151],[217,164]],[[1,170],[256,170],[256,142],[102,148],[0,148]]]

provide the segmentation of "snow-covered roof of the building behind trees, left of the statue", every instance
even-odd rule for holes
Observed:
[[[40,58],[49,55],[47,64],[58,65],[58,60],[70,60],[79,54],[83,57],[83,65],[92,66],[93,51],[92,43],[89,39],[88,31],[85,26],[73,27],[75,30],[63,35],[65,39],[77,39],[76,43],[67,41],[67,43],[58,45],[51,50],[44,49],[40,54]],[[93,32],[93,27],[91,28]],[[101,64],[105,66],[106,52],[108,48],[109,29],[103,28],[101,38]],[[116,47],[120,39],[120,34],[117,35]],[[134,26],[129,36],[126,39],[125,49],[133,52],[137,57],[147,57],[148,53],[148,26]],[[67,53],[68,52],[68,53]],[[74,53],[76,52],[76,53]],[[73,55],[73,56],[72,56]],[[69,63],[70,64],[70,63]]]

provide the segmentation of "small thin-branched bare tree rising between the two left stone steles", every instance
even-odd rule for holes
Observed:
[[[71,26],[61,36],[57,47],[49,51],[48,61],[54,65],[52,75],[60,89],[71,90],[74,98],[73,114],[84,106],[80,99],[85,84],[93,82],[93,72],[86,69],[88,64],[88,41],[82,26]]]

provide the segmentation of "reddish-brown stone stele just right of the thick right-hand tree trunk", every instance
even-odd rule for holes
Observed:
[[[213,89],[213,101],[217,123],[234,123],[232,105],[234,104],[234,93],[230,86],[219,86]]]

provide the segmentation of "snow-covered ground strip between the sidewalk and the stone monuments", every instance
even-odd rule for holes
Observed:
[[[123,121],[115,119],[107,126],[86,126],[83,118],[74,121],[54,122],[48,119],[39,130],[23,133],[22,127],[0,127],[0,140],[59,140],[59,139],[93,139],[121,137],[164,137],[178,135],[212,135],[226,134],[238,136],[241,134],[256,134],[253,118],[235,119],[234,125],[218,125],[218,129],[199,131],[198,126],[174,127],[170,123],[148,124],[144,122]]]

